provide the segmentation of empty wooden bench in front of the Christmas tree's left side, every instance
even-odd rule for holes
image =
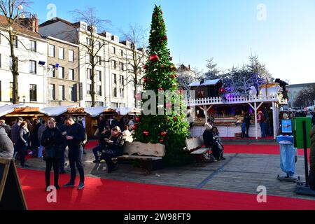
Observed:
[[[144,144],[134,141],[126,142],[124,155],[118,156],[118,160],[140,160],[147,174],[151,174],[153,161],[162,160],[165,157],[165,145]]]

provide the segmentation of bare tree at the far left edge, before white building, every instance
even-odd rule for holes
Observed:
[[[18,57],[15,56],[15,41],[18,41],[17,36],[27,27],[20,25],[20,20],[25,19],[25,10],[30,5],[30,1],[27,0],[1,0],[0,1],[0,16],[5,19],[5,30],[7,35],[0,33],[1,36],[8,40],[10,45],[10,57],[12,59],[11,71],[13,76],[13,104],[18,104],[19,92],[18,92]],[[22,42],[20,42],[22,43]],[[22,43],[23,45],[23,43]],[[23,45],[25,47],[25,45]],[[27,49],[25,47],[25,49]]]

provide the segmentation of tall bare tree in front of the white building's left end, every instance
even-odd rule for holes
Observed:
[[[76,43],[80,46],[80,66],[88,65],[91,68],[91,98],[92,107],[94,107],[96,103],[95,67],[102,62],[109,62],[98,57],[99,51],[102,50],[107,42],[104,41],[102,35],[97,33],[97,30],[103,29],[105,24],[109,24],[109,20],[97,18],[97,10],[90,7],[86,7],[86,10],[74,10],[73,13],[76,15],[78,21],[85,22],[87,25],[86,27],[80,27],[80,34],[78,35],[86,36],[86,38],[83,40],[76,36]],[[81,64],[83,62],[81,59],[86,57],[88,58]]]

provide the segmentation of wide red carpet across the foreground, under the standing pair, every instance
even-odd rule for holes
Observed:
[[[44,173],[18,170],[30,210],[293,210],[315,209],[315,201],[268,196],[259,204],[256,195],[227,193],[86,178],[85,189],[62,188],[57,203],[46,201]],[[60,183],[69,181],[61,176]]]

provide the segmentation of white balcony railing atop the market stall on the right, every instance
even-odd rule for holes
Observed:
[[[254,102],[279,102],[279,104],[288,104],[287,99],[283,99],[275,94],[269,96],[259,95],[258,97],[229,97],[223,101],[221,97],[210,97],[194,99],[186,96],[185,102],[188,106],[204,106],[204,105],[218,105],[218,104],[246,104]]]

